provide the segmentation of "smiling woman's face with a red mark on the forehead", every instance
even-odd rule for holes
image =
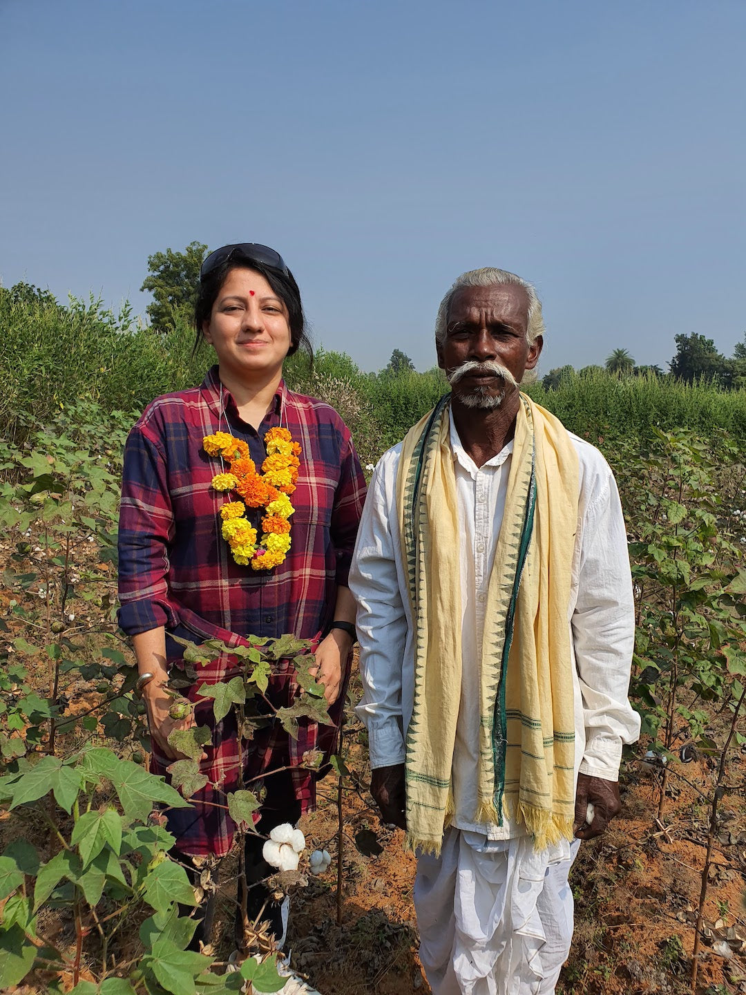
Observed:
[[[255,270],[229,270],[202,331],[223,373],[247,382],[280,377],[290,347],[287,308]]]

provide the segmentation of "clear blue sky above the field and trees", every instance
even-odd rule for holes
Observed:
[[[535,283],[541,369],[746,330],[743,0],[0,0],[0,282],[139,293],[264,242],[316,344],[433,365],[459,273]]]

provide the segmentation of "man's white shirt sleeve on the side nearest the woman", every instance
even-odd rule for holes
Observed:
[[[408,620],[397,571],[396,463],[390,451],[373,475],[349,575],[357,601],[363,685],[356,711],[368,730],[373,768],[405,759],[402,675]]]

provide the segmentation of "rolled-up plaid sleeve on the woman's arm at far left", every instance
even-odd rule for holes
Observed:
[[[166,579],[173,532],[165,456],[138,423],[124,446],[119,506],[119,626],[128,636],[175,624]]]

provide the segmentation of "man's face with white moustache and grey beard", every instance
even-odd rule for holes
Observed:
[[[466,407],[496,408],[536,365],[542,338],[526,340],[528,295],[522,287],[463,287],[449,308],[438,365]]]

